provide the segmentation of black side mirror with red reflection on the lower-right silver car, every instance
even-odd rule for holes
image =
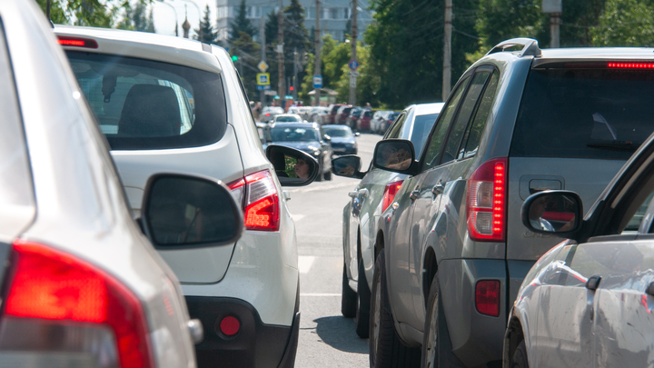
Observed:
[[[536,234],[573,238],[581,227],[583,204],[579,194],[545,191],[530,195],[522,204],[522,224]]]

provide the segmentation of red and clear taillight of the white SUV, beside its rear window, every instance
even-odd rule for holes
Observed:
[[[227,185],[235,197],[242,197],[245,229],[276,232],[280,226],[280,205],[272,174],[268,170],[245,176]]]

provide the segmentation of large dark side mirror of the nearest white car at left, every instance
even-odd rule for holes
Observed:
[[[243,213],[220,181],[187,174],[155,174],[145,186],[141,224],[157,249],[233,244]]]

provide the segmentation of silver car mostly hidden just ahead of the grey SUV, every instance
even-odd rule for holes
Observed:
[[[409,139],[416,153],[420,154],[431,127],[441,114],[442,106],[443,104],[411,104],[401,112],[397,123],[383,139]],[[352,159],[356,159],[358,163],[352,164]],[[343,168],[346,166],[357,170],[344,171]],[[345,317],[356,317],[356,332],[360,337],[366,338],[371,295],[369,284],[372,284],[374,270],[372,264],[374,264],[375,234],[378,231],[377,220],[392,204],[394,195],[408,175],[377,168],[372,168],[367,173],[360,173],[357,166],[361,166],[359,157],[336,158],[332,163],[332,172],[340,176],[362,178],[355,190],[350,192],[352,199],[343,209],[344,263],[341,312]]]

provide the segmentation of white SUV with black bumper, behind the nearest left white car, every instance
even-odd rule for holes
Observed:
[[[243,204],[245,232],[235,244],[155,244],[182,284],[189,313],[207,326],[198,365],[292,366],[300,320],[295,225],[230,56],[179,37],[74,26],[54,32],[134,214],[147,178],[159,172],[220,179]]]

